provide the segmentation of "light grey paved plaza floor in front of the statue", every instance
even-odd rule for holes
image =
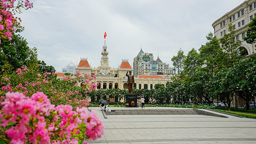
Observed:
[[[239,118],[219,112],[213,113],[228,118],[209,115],[107,115],[108,118],[104,118],[99,107],[90,109],[97,112],[105,126],[105,134],[96,141],[90,141],[90,144],[256,144],[256,119],[253,118]]]

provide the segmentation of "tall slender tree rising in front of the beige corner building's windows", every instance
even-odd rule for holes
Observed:
[[[236,31],[234,30],[235,26],[230,23],[229,25],[229,33],[224,34],[223,37],[221,37],[220,42],[222,45],[222,48],[225,52],[227,52],[227,68],[230,68],[234,65],[236,61],[239,61],[241,58],[243,58],[242,55],[239,55],[240,52],[238,50],[239,46],[241,46],[241,41],[235,39]]]

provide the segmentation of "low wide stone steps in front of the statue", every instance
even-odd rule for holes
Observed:
[[[116,109],[106,115],[199,115],[194,109]]]

